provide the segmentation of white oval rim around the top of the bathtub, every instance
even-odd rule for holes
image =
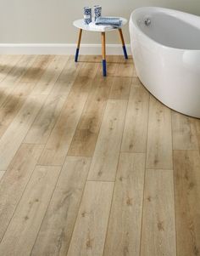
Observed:
[[[147,40],[150,40],[150,42],[155,43],[156,45],[158,45],[158,47],[160,48],[164,48],[166,50],[170,50],[170,51],[179,51],[179,52],[185,52],[185,51],[192,51],[192,52],[200,52],[200,47],[199,49],[192,49],[192,48],[175,48],[175,47],[170,47],[167,45],[164,45],[162,43],[158,43],[157,41],[153,40],[153,38],[148,37],[146,33],[144,33],[141,28],[137,25],[136,19],[134,17],[135,14],[139,13],[142,10],[158,10],[158,12],[160,13],[170,13],[170,14],[175,14],[175,13],[179,13],[179,14],[186,14],[187,16],[191,16],[191,17],[196,17],[197,19],[199,19],[200,22],[200,16],[197,16],[195,14],[189,14],[189,13],[185,13],[182,12],[180,10],[176,10],[176,9],[167,9],[167,8],[162,8],[162,7],[157,7],[157,6],[145,6],[145,7],[140,7],[135,9],[134,11],[132,11],[131,13],[131,17],[129,20],[129,26],[134,26],[134,28],[136,29],[137,32],[139,32],[140,34],[142,34],[143,37],[147,38]],[[135,22],[134,22],[135,21]],[[200,31],[200,29],[199,29]]]

